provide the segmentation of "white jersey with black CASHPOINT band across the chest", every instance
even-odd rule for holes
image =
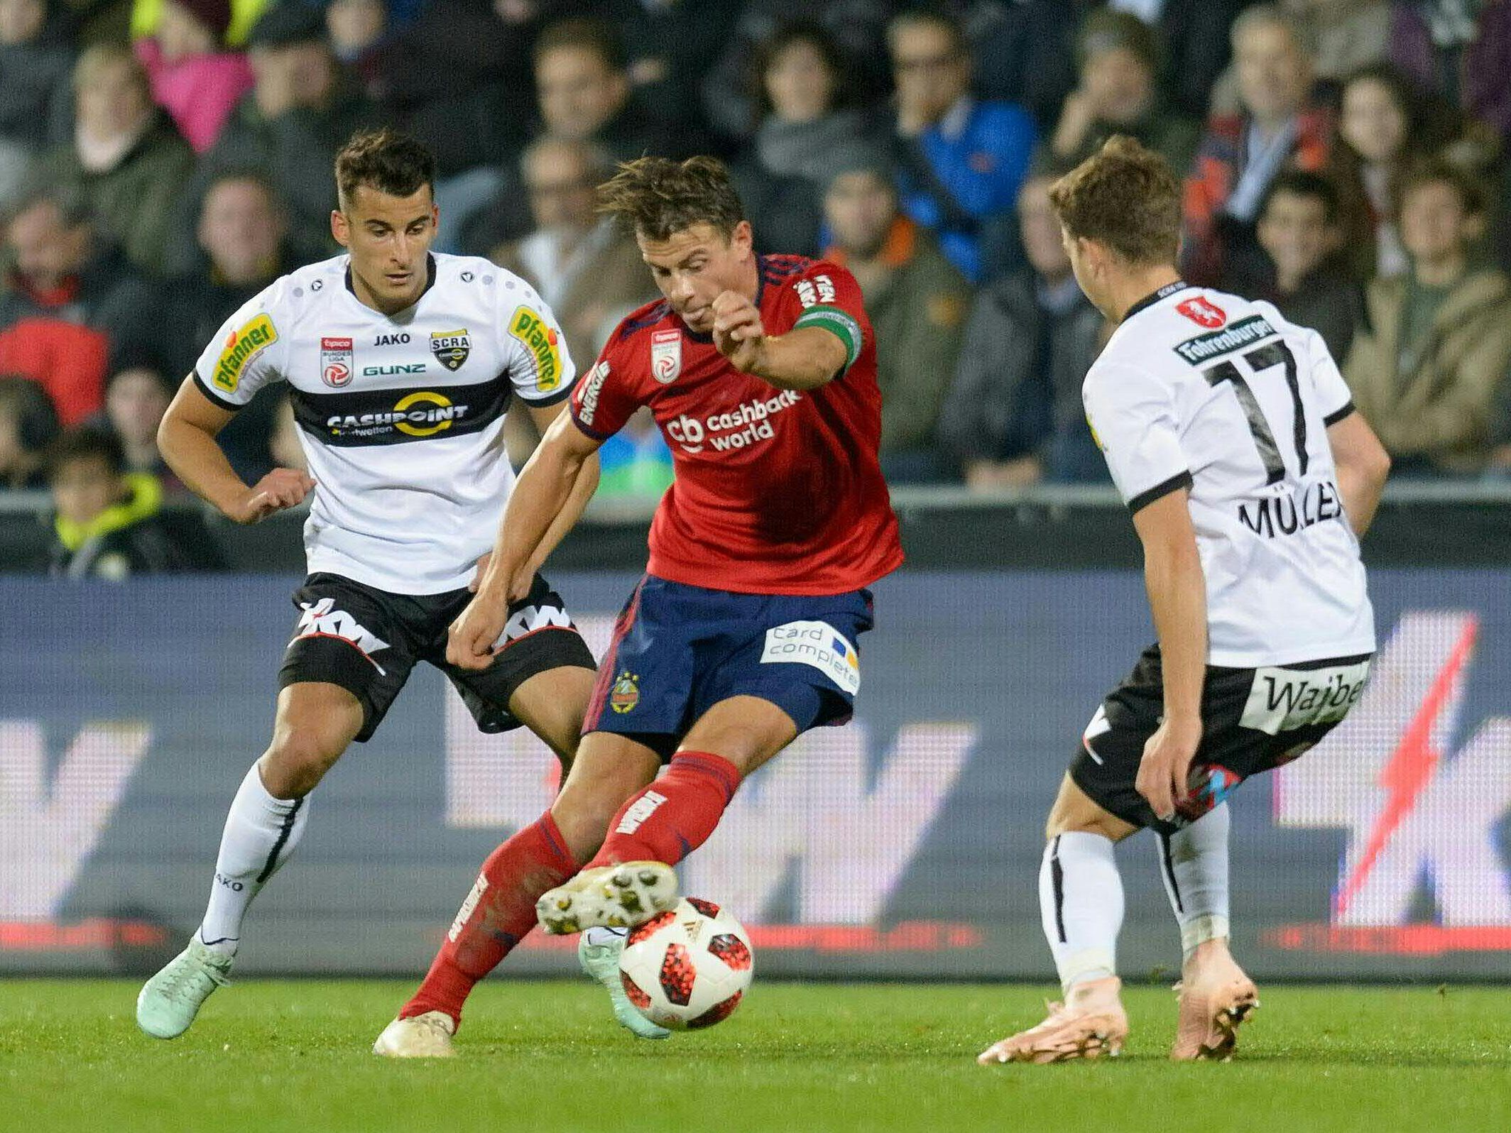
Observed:
[[[556,317],[529,284],[440,254],[420,299],[391,317],[357,299],[349,257],[301,267],[233,314],[195,366],[227,409],[289,382],[316,482],[310,573],[394,594],[467,586],[514,485],[511,397],[552,405],[573,378]]]

